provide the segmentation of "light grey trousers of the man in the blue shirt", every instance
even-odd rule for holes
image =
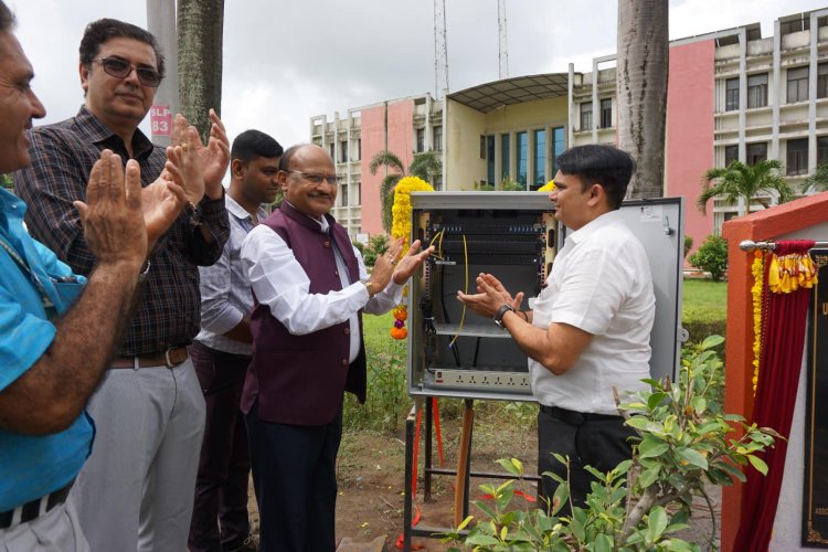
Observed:
[[[8,552],[89,552],[72,499],[28,522],[0,529],[0,550]]]

